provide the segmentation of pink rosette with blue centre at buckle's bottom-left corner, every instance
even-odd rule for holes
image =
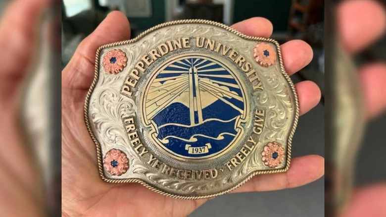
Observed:
[[[122,175],[129,169],[129,159],[121,150],[111,149],[103,158],[103,165],[111,175]]]

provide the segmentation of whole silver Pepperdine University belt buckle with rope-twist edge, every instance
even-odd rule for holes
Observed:
[[[103,180],[199,199],[289,168],[299,109],[274,40],[183,20],[97,59],[85,119]]]

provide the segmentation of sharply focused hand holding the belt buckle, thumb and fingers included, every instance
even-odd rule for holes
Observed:
[[[232,26],[240,32],[270,37],[272,24],[255,17]],[[130,25],[121,12],[111,12],[77,48],[62,72],[62,212],[66,216],[186,216],[207,201],[178,200],[154,193],[140,184],[109,184],[99,177],[94,142],[87,131],[83,108],[94,77],[94,58],[103,44],[129,39]],[[308,44],[293,40],[281,46],[289,75],[312,59]],[[300,114],[315,107],[320,90],[311,81],[295,85]],[[258,175],[234,192],[268,191],[307,184],[324,173],[320,156],[294,158],[285,173]]]

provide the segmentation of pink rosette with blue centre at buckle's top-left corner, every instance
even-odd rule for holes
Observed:
[[[127,57],[125,52],[119,49],[114,49],[103,56],[102,66],[106,73],[117,74],[126,66]]]

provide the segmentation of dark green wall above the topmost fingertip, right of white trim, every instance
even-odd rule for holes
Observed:
[[[262,16],[271,20],[274,31],[287,31],[290,8],[291,0],[235,0],[233,21]]]

